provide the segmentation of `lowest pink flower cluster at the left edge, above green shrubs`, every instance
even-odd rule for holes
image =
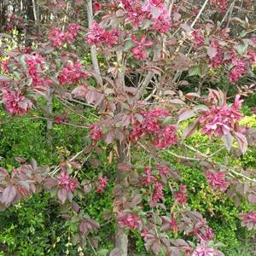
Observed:
[[[32,108],[32,102],[19,90],[2,90],[3,104],[9,113],[22,115]]]

